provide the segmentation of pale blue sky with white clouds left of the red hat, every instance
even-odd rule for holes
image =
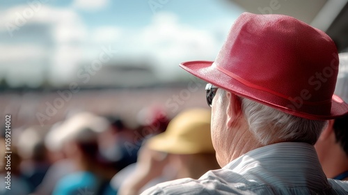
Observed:
[[[117,51],[108,63],[148,59],[173,79],[181,61],[214,60],[242,12],[227,0],[0,1],[0,79],[68,84],[103,48]]]

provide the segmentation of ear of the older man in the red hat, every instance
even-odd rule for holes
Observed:
[[[242,114],[242,102],[237,95],[227,92],[227,126],[232,127],[233,121],[235,121]]]

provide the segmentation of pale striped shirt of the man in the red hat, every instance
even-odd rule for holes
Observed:
[[[198,180],[164,182],[143,194],[348,194],[348,182],[327,179],[308,143],[251,150]]]

